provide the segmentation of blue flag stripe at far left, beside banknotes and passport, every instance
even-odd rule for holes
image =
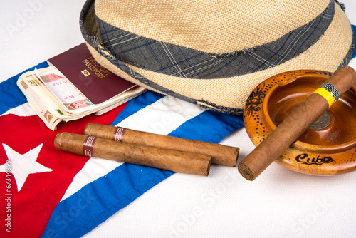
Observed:
[[[46,68],[48,63],[45,61],[39,63],[33,68],[28,68],[28,70],[19,73],[16,76],[9,78],[8,80],[0,83],[0,115],[6,113],[11,108],[16,108],[23,103],[27,103],[25,95],[21,92],[20,88],[16,85],[17,80],[21,74],[27,71],[33,71],[34,68]]]

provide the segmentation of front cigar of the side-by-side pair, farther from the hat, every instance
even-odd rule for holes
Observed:
[[[146,145],[117,143],[91,135],[58,133],[54,145],[58,150],[77,155],[128,162],[174,172],[208,176],[210,170],[211,157],[207,155],[164,150]]]

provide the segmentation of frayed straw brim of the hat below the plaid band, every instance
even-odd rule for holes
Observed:
[[[333,21],[323,36],[307,51],[285,63],[263,71],[228,78],[201,80],[169,76],[122,62],[103,48],[98,42],[98,35],[95,36],[98,29],[93,24],[95,21],[93,2],[91,1],[91,5],[87,2],[88,6],[83,8],[87,10],[83,11],[86,14],[81,18],[83,19],[81,27],[90,53],[98,63],[137,85],[225,113],[242,113],[248,95],[266,78],[300,69],[334,72],[337,68],[347,65],[355,48],[352,26],[344,11],[335,4]],[[91,13],[90,9],[92,9]]]

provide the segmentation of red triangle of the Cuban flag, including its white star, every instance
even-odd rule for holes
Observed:
[[[88,161],[57,150],[54,138],[61,132],[81,134],[88,123],[110,125],[125,105],[60,124],[56,132],[36,115],[0,116],[0,237],[41,237],[53,209]]]

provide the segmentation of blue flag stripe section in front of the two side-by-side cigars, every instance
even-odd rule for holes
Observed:
[[[81,237],[172,174],[122,164],[60,202],[42,237]]]

